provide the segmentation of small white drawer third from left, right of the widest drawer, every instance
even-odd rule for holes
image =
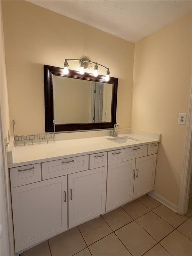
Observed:
[[[107,165],[107,152],[92,154],[89,156],[89,169],[103,167]]]

